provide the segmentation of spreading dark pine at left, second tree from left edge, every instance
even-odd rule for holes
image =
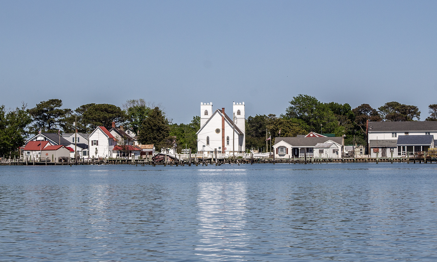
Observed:
[[[62,100],[50,99],[29,109],[28,113],[34,122],[30,132],[38,134],[40,128],[45,132],[58,132],[62,119],[72,113],[71,109],[61,109],[60,107],[62,107]]]

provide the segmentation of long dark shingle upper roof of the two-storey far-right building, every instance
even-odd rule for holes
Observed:
[[[372,131],[437,131],[437,121],[369,122],[369,132]]]

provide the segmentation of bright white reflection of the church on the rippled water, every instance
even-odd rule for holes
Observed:
[[[245,260],[249,240],[246,230],[246,183],[198,183],[198,234],[195,248],[208,261]]]

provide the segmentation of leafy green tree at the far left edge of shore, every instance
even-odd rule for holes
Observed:
[[[25,108],[24,103],[15,110],[5,110],[3,105],[0,107],[0,155],[10,155],[24,145],[27,136],[25,129],[32,122]]]

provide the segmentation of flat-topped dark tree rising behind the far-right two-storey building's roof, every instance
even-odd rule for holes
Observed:
[[[404,105],[399,102],[388,102],[378,108],[385,121],[414,121],[420,120],[420,111],[416,106]]]

